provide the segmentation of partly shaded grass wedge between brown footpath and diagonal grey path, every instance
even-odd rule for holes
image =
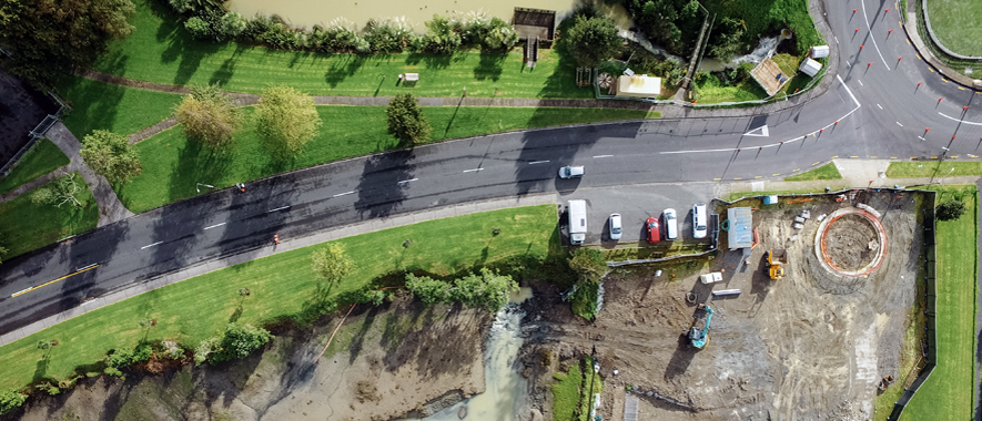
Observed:
[[[90,79],[65,75],[58,92],[71,102],[64,125],[75,137],[108,130],[130,135],[160,123],[173,114],[182,95],[124,88]]]

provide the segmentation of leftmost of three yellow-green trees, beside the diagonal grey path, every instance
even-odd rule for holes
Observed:
[[[97,130],[82,138],[82,160],[110,183],[124,183],[143,172],[140,155],[125,136]]]

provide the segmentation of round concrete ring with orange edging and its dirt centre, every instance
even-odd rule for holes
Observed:
[[[826,270],[841,276],[867,276],[887,255],[887,232],[875,215],[843,208],[819,226],[814,248]]]

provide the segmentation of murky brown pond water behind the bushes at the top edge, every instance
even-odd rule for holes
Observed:
[[[488,17],[502,18],[512,21],[512,14],[516,7],[555,10],[557,23],[573,12],[577,0],[505,0],[505,1],[477,1],[477,0],[419,0],[419,1],[393,1],[393,0],[231,0],[227,6],[232,11],[242,13],[246,18],[260,14],[279,14],[284,20],[297,27],[311,28],[314,24],[326,24],[336,18],[345,18],[354,22],[360,29],[369,19],[405,17],[416,32],[426,32],[423,22],[432,20],[433,14],[450,16],[457,12],[464,16],[468,12],[484,12]],[[621,28],[630,27],[630,20],[624,7],[606,7],[598,2],[598,8]]]

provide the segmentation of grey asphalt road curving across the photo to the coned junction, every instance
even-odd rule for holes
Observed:
[[[869,1],[829,3],[836,35],[828,41],[839,49],[840,74],[827,75],[836,81],[811,102],[752,117],[591,124],[446,142],[257,181],[245,193],[225,189],[175,203],[4,263],[0,333],[89,297],[269,244],[273,234],[290,238],[539,192],[566,198],[587,188],[770,177],[833,156],[907,158],[941,155],[944,148],[949,155],[978,154],[980,99],[918,60],[897,11],[884,13],[887,3]],[[865,12],[853,16],[853,7]],[[767,136],[760,135],[765,125]],[[585,165],[587,176],[558,179],[557,170],[569,164]],[[682,216],[688,205],[676,208]],[[12,297],[92,264],[100,266]]]

